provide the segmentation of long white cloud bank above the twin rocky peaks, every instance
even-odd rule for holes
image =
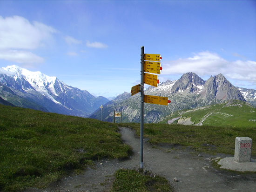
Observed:
[[[209,76],[222,73],[228,79],[256,83],[256,61],[228,61],[208,51],[195,53],[189,58],[167,61],[162,66],[162,74],[194,72],[199,76]]]

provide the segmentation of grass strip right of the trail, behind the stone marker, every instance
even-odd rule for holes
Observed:
[[[123,123],[140,135],[139,123]],[[169,143],[191,146],[198,152],[234,154],[236,137],[250,137],[256,141],[256,128],[231,126],[184,126],[167,124],[144,124],[144,137],[152,144]],[[256,145],[252,146],[252,155],[256,156]]]

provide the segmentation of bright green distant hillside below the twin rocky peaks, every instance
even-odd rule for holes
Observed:
[[[204,121],[203,125],[209,126],[234,126],[234,127],[256,127],[256,108],[249,106],[246,102],[232,100],[231,106],[224,104],[217,104],[207,106],[205,108],[197,108],[190,111],[179,111],[166,118],[163,122],[166,123],[168,119],[176,117],[191,117],[194,124],[199,123],[206,115],[209,115]],[[177,120],[174,122],[176,123]]]

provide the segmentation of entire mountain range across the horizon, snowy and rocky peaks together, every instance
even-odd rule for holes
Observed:
[[[113,121],[114,111],[122,111],[123,122],[140,120],[140,94],[131,96],[124,92],[109,101],[41,72],[31,72],[15,65],[2,69],[6,74],[0,74],[0,97],[1,102],[6,101],[6,104],[94,119],[101,119],[99,107],[102,104],[105,121]],[[196,73],[184,73],[180,79],[167,80],[158,87],[149,86],[144,93],[165,96],[172,101],[168,106],[145,103],[144,119],[148,123],[159,122],[175,111],[214,105],[230,99],[248,100],[256,106],[256,90],[235,87],[221,73],[207,80]]]

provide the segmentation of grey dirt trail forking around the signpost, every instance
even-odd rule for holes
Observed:
[[[120,128],[123,141],[132,146],[134,154],[125,161],[101,160],[95,169],[81,175],[71,175],[52,184],[47,189],[28,189],[26,192],[108,192],[114,180],[113,174],[121,168],[139,168],[140,139],[129,128]],[[159,174],[174,185],[177,192],[256,192],[256,174],[239,174],[216,169],[207,158],[216,156],[195,153],[191,149],[172,148],[165,145],[152,148],[145,139],[144,169]],[[167,150],[168,149],[168,150]],[[176,177],[178,182],[174,182]]]

